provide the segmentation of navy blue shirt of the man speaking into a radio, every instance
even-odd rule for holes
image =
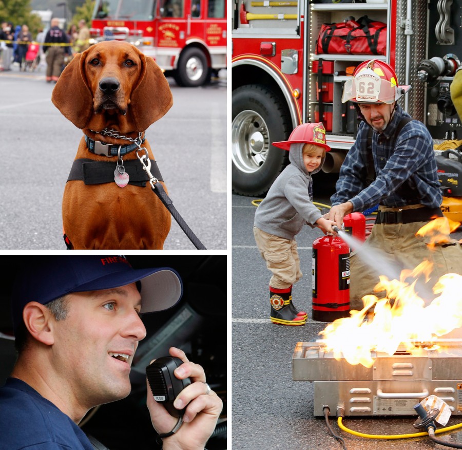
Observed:
[[[0,388],[0,450],[93,450],[85,433],[64,412],[24,381]]]

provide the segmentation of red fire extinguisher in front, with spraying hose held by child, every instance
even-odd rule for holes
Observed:
[[[332,322],[350,316],[350,247],[338,236],[313,242],[312,317]]]

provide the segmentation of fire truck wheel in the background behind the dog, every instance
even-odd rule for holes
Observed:
[[[207,58],[195,47],[184,50],[174,73],[175,81],[180,86],[202,86],[210,79]]]

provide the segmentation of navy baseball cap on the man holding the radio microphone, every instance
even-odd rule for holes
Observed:
[[[29,302],[46,305],[71,292],[119,288],[141,282],[141,313],[163,311],[183,294],[180,275],[169,267],[133,269],[124,256],[29,256],[13,285],[16,331]]]

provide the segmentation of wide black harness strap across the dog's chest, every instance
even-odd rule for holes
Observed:
[[[159,181],[163,181],[157,162],[151,161],[151,173]],[[85,184],[114,183],[115,161],[93,161],[87,158],[74,160],[67,181],[81,180]],[[146,186],[148,176],[138,159],[124,161],[125,172],[129,175],[128,184]]]

